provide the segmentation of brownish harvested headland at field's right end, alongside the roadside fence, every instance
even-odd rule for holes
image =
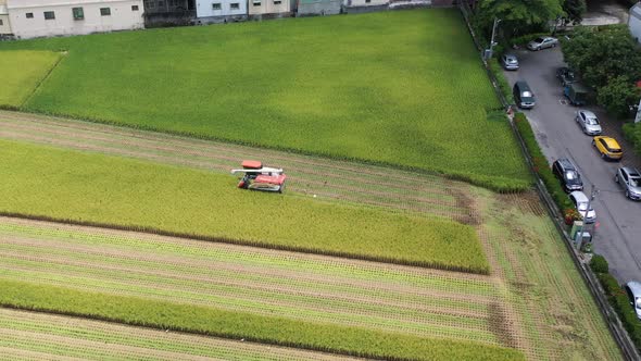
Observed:
[[[524,338],[516,344],[527,345],[521,349],[528,358],[620,359],[601,312],[538,199],[498,196],[483,208],[487,221],[480,238],[492,253],[489,259],[499,263],[497,275],[510,290],[503,304],[516,311],[518,337]]]

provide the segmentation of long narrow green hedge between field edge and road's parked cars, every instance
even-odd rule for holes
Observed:
[[[514,115],[514,123],[516,124],[516,128],[518,129],[530,157],[532,158],[535,172],[537,172],[541,177],[541,180],[543,180],[545,188],[548,188],[548,191],[550,192],[550,196],[552,196],[552,199],[554,199],[556,206],[558,206],[561,210],[568,208],[574,209],[574,204],[567,198],[561,183],[558,183],[558,179],[556,179],[552,173],[552,169],[550,167],[550,164],[548,164],[548,160],[545,160],[545,155],[543,155],[543,151],[541,151],[537,138],[535,137],[535,132],[528,123],[525,114],[520,112],[516,113]]]

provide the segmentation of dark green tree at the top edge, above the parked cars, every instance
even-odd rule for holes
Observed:
[[[478,15],[485,28],[490,28],[494,17],[500,18],[501,28],[507,37],[523,34],[564,14],[564,0],[481,0]]]

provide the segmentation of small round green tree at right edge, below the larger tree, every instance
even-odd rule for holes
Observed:
[[[596,90],[596,101],[617,117],[630,115],[630,108],[639,101],[639,91],[627,76],[613,77]]]

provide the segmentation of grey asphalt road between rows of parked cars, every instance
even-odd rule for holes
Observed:
[[[606,162],[599,157],[591,145],[592,138],[574,120],[578,108],[565,103],[556,79],[556,69],[564,65],[560,48],[513,52],[519,59],[520,69],[505,75],[511,85],[517,79],[526,80],[535,92],[537,105],[525,113],[549,162],[557,158],[574,160],[583,178],[586,195],[591,186],[599,190],[592,202],[596,211],[594,252],[606,258],[611,273],[619,282],[641,281],[641,202],[628,200],[614,182],[621,164],[641,170],[640,157],[632,154],[631,146],[623,139],[618,122],[608,119],[602,109],[587,107],[599,116],[603,135],[615,137],[624,148],[621,163]]]

